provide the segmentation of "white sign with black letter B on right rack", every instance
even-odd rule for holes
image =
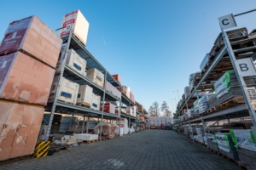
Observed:
[[[236,68],[241,77],[252,77],[256,75],[253,59],[236,59]]]

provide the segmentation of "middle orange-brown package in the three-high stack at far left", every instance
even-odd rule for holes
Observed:
[[[55,70],[21,52],[0,57],[0,98],[47,105]]]

